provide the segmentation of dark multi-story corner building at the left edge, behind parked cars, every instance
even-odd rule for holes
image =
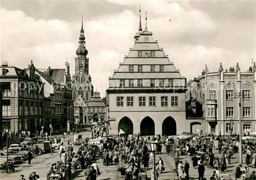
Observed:
[[[35,74],[33,62],[25,70],[3,62],[0,82],[9,86],[3,95],[3,128],[8,126],[12,132],[40,130],[44,121],[44,83]]]

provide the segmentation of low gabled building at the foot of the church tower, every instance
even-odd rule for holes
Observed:
[[[94,92],[89,102],[82,97],[74,101],[74,117],[82,119],[86,124],[102,122],[106,119],[106,106],[99,92]]]

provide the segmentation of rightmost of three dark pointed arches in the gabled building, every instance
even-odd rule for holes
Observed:
[[[176,121],[168,116],[164,119],[162,124],[162,135],[164,136],[175,136],[177,134],[177,124]]]

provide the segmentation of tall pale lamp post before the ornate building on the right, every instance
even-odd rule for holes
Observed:
[[[239,117],[239,162],[243,164],[243,152],[242,152],[242,105],[241,101],[244,98],[243,93],[238,92],[233,94],[233,99],[238,99],[238,117]],[[248,98],[248,97],[247,97]]]

